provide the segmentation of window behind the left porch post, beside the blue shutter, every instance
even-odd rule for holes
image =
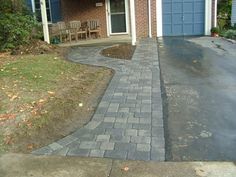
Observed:
[[[39,22],[42,22],[40,0],[34,0],[34,1],[35,1],[35,13],[36,13],[37,20]],[[52,22],[50,0],[45,0],[45,2],[46,2],[48,22]]]

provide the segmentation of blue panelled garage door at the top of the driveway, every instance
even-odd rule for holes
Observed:
[[[163,35],[203,35],[205,0],[162,0]]]

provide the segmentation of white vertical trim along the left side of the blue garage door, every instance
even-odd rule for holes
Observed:
[[[157,37],[163,36],[162,0],[156,0]]]

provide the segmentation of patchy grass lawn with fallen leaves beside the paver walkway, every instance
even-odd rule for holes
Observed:
[[[0,152],[30,152],[83,126],[111,76],[58,54],[0,57]]]

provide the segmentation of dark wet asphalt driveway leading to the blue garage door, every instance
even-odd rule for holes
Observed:
[[[236,160],[236,58],[184,38],[158,40],[167,160]],[[235,49],[236,50],[236,49]]]

